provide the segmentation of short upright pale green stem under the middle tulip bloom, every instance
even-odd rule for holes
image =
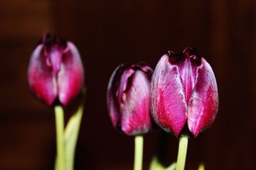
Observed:
[[[143,136],[135,136],[134,139],[134,170],[142,170],[143,160]]]

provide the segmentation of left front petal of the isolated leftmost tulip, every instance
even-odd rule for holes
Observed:
[[[49,106],[57,96],[56,78],[52,76],[49,59],[44,54],[43,45],[36,46],[28,68],[28,83],[33,94]]]

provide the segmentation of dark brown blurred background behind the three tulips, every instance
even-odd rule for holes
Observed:
[[[10,0],[0,5],[0,169],[53,169],[54,113],[31,96],[30,54],[45,32],[76,43],[86,70],[76,169],[133,167],[133,138],[116,132],[106,87],[118,64],[195,46],[211,64],[220,95],[211,129],[189,140],[186,169],[255,169],[256,1]],[[68,119],[66,115],[66,119]],[[160,130],[145,135],[144,169]],[[166,164],[178,140],[165,135]],[[164,156],[164,154],[163,154]]]

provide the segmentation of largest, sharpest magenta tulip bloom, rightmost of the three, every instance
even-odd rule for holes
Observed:
[[[152,117],[166,132],[198,136],[211,126],[218,111],[211,66],[189,47],[163,55],[152,76],[150,103]]]

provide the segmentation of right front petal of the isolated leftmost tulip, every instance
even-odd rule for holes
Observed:
[[[67,42],[67,49],[63,51],[62,63],[58,73],[58,97],[64,106],[77,96],[84,82],[83,64],[76,46]]]

